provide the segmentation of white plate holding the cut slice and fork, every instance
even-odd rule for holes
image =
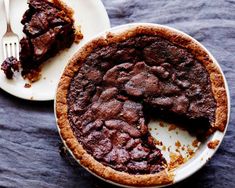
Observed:
[[[26,80],[20,74],[16,74],[13,80],[5,78],[3,71],[0,71],[0,87],[6,92],[23,99],[45,101],[52,100],[55,95],[57,82],[61,73],[71,56],[89,40],[92,36],[110,28],[107,12],[100,0],[64,0],[66,4],[73,8],[76,23],[81,25],[84,39],[78,44],[73,44],[71,48],[62,51],[54,58],[49,59],[42,68],[42,77],[32,84],[30,88],[24,88]],[[24,36],[20,23],[21,18],[28,8],[27,0],[11,0],[11,25],[19,38]],[[5,13],[3,0],[0,0],[0,39],[6,31]],[[2,45],[0,44],[0,64],[3,62]]]

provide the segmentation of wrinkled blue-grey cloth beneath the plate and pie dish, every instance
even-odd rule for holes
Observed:
[[[215,156],[174,187],[235,187],[235,0],[103,0],[112,26],[153,22],[180,29],[219,61],[231,94],[228,131]],[[0,90],[0,187],[113,187],[59,154],[53,102]]]

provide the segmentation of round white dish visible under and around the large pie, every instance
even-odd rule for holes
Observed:
[[[96,37],[101,37],[101,36],[105,37],[108,32],[112,32],[112,33],[117,34],[117,33],[123,32],[123,31],[125,31],[127,29],[130,29],[130,28],[133,28],[133,27],[136,27],[136,26],[140,26],[140,25],[142,25],[142,26],[152,26],[152,27],[154,27],[154,26],[163,27],[163,28],[167,28],[169,30],[172,30],[174,32],[181,33],[183,35],[187,35],[187,34],[181,32],[179,30],[176,30],[176,29],[173,29],[173,28],[167,27],[167,26],[162,26],[162,25],[157,25],[157,24],[150,24],[150,23],[133,23],[133,24],[126,24],[126,25],[121,25],[121,26],[118,26],[118,27],[111,28],[111,29],[107,30],[106,32],[103,32],[103,33],[97,35]],[[190,36],[188,36],[188,37],[190,37]],[[228,122],[229,122],[229,116],[230,116],[230,96],[229,96],[229,90],[228,90],[227,81],[226,81],[226,79],[224,77],[224,74],[223,74],[223,72],[222,72],[218,62],[210,54],[210,52],[208,52],[208,50],[202,44],[197,42],[195,39],[193,39],[192,37],[190,37],[190,38],[192,40],[194,40],[196,43],[198,43],[202,48],[204,48],[204,50],[212,58],[213,62],[219,67],[219,69],[220,69],[220,71],[221,71],[221,73],[223,75],[224,82],[225,82],[225,87],[226,87],[226,91],[227,91]],[[55,113],[55,116],[56,116],[56,113]],[[56,117],[56,120],[57,120],[57,117]],[[179,166],[178,168],[176,168],[174,170],[175,177],[174,177],[174,182],[173,183],[177,183],[177,182],[182,181],[185,178],[189,177],[190,175],[192,175],[196,171],[198,171],[201,167],[203,167],[206,164],[206,162],[208,162],[208,160],[211,159],[211,157],[214,155],[214,153],[216,152],[216,150],[218,149],[219,146],[217,146],[216,149],[209,149],[207,147],[207,143],[209,141],[213,141],[213,140],[217,139],[217,140],[220,141],[219,144],[221,144],[221,142],[223,140],[223,137],[225,135],[225,132],[227,130],[228,123],[226,125],[226,129],[225,129],[224,132],[216,131],[205,142],[199,143],[198,147],[193,147],[192,146],[192,142],[195,140],[195,137],[192,137],[191,135],[188,134],[187,131],[179,129],[179,128],[176,128],[176,129],[174,129],[172,131],[169,131],[168,129],[169,129],[170,126],[171,125],[165,124],[165,123],[164,123],[164,126],[160,126],[159,125],[159,121],[157,121],[157,120],[156,121],[151,121],[149,123],[149,130],[150,130],[151,135],[155,139],[161,141],[163,143],[163,145],[165,145],[167,148],[170,146],[169,147],[169,151],[168,150],[166,150],[166,151],[162,150],[162,153],[163,153],[164,157],[166,158],[166,160],[169,162],[170,161],[170,158],[169,158],[170,153],[171,152],[175,153],[175,150],[177,149],[177,147],[175,146],[175,143],[177,141],[180,141],[182,146],[183,145],[188,146],[189,148],[191,148],[195,152],[194,156],[191,159],[188,159],[187,162],[185,162],[183,165]],[[57,127],[58,127],[58,125],[57,125]],[[58,127],[58,130],[60,132],[59,127]],[[61,137],[61,139],[63,140],[62,137]],[[64,142],[64,144],[66,145],[65,142]],[[162,149],[162,147],[160,147],[160,146],[157,146],[157,147]],[[68,147],[67,147],[67,149],[69,150],[71,155],[73,155]],[[180,153],[182,154],[182,156],[184,158],[187,155],[187,151],[182,150],[182,149],[180,149]],[[79,160],[77,160],[77,162],[80,163]],[[92,173],[89,169],[87,169],[87,168],[85,168],[85,169],[88,170],[90,173]],[[97,176],[94,173],[92,173],[92,174]],[[97,176],[97,177],[102,179],[102,180],[104,180],[104,181],[106,181],[106,182],[109,182],[109,183],[112,183],[112,184],[115,184],[115,185],[119,185],[119,186],[123,186],[123,187],[130,187],[130,186],[124,186],[124,185],[121,185],[121,184],[117,184],[115,182],[103,179],[103,178],[101,178],[99,176]],[[155,186],[155,187],[164,187],[164,186]]]

